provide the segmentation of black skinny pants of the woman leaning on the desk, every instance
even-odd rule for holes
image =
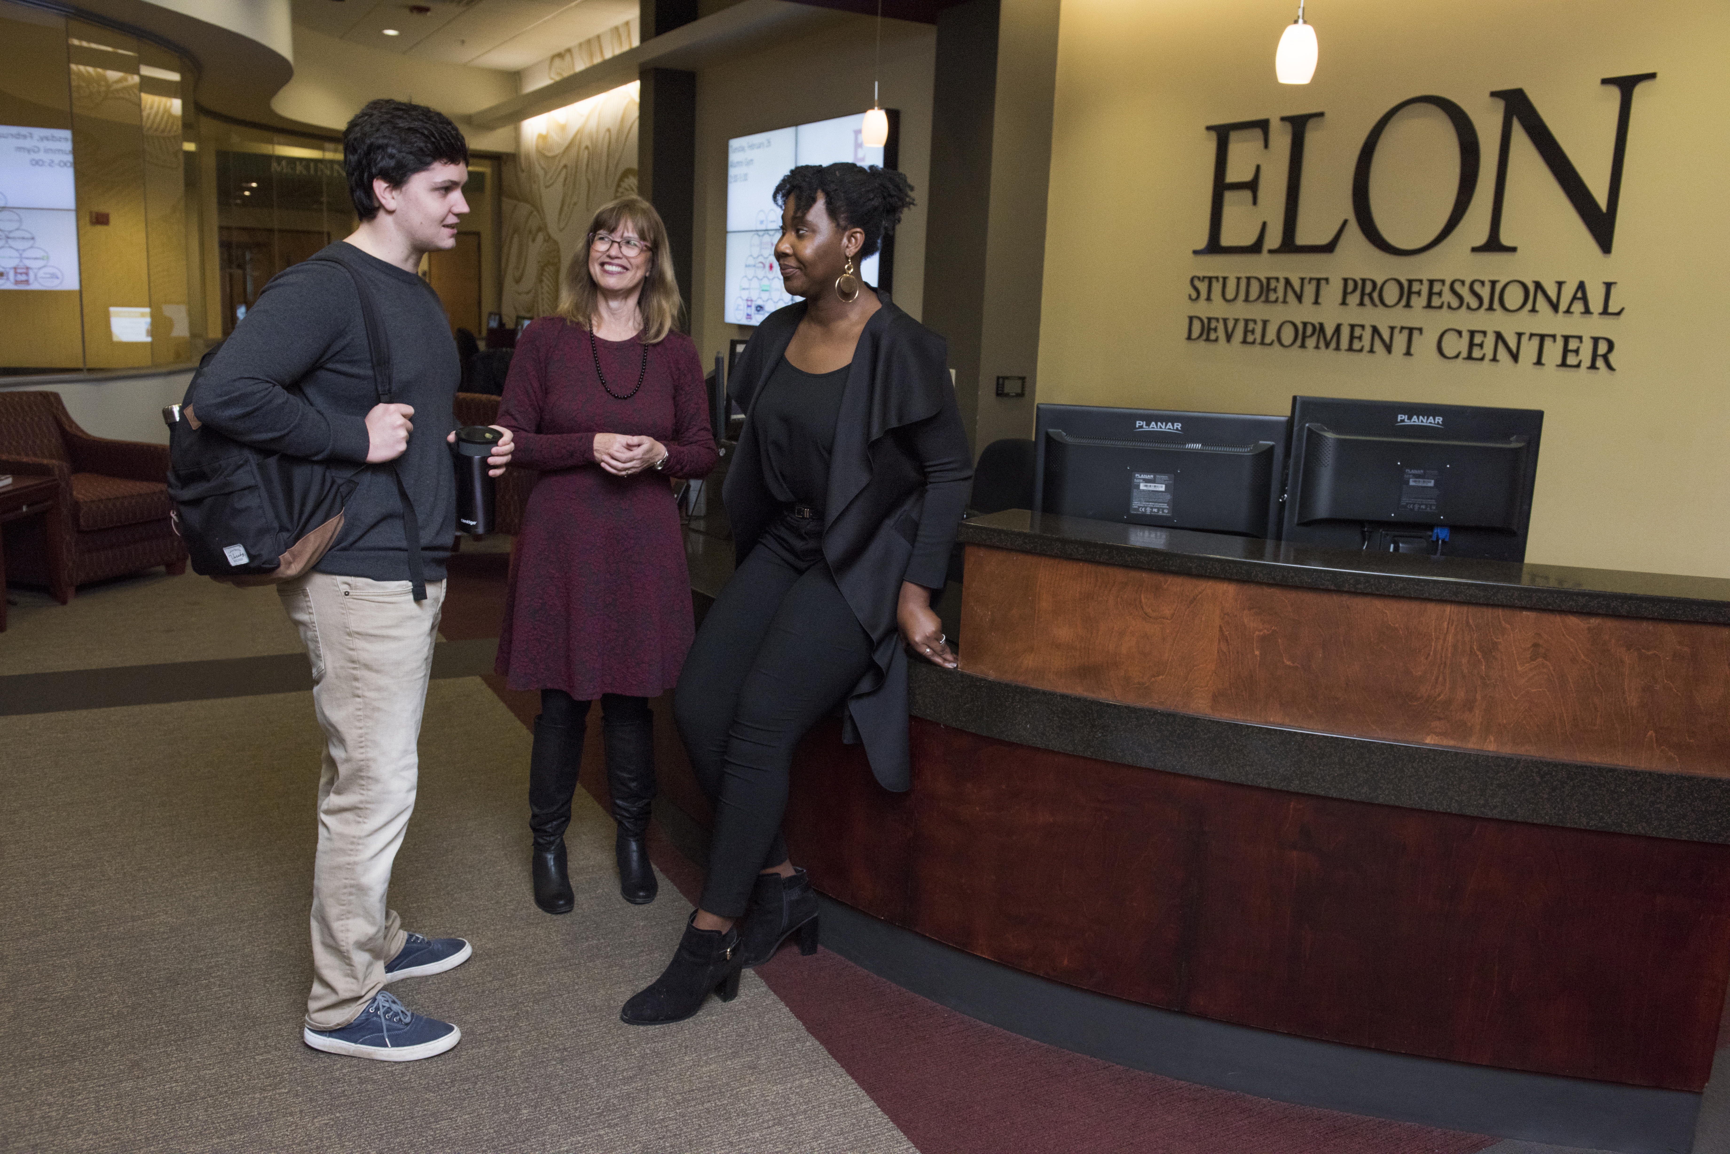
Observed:
[[[782,517],[721,590],[697,630],[673,716],[714,805],[701,908],[740,917],[756,877],[787,860],[792,751],[872,661],[822,552],[820,521]]]

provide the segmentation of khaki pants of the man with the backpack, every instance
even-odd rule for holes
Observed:
[[[386,891],[415,808],[445,581],[427,581],[422,602],[408,581],[327,573],[284,581],[277,593],[311,657],[325,734],[306,1024],[339,1029],[384,988],[384,964],[407,938]]]

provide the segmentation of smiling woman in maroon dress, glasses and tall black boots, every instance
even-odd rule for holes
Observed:
[[[564,277],[559,313],[517,341],[498,424],[514,464],[540,471],[517,540],[498,671],[541,690],[529,754],[535,903],[567,914],[564,830],[599,697],[618,822],[619,893],[654,901],[644,844],[654,799],[647,699],[678,682],[690,649],[690,578],[670,478],[718,455],[697,348],[666,227],[647,201],[604,204]]]

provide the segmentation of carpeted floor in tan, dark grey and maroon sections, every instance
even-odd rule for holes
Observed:
[[[1562,1154],[1123,1069],[827,950],[784,950],[690,1023],[619,1024],[701,870],[656,830],[671,884],[625,905],[612,825],[580,792],[578,908],[533,908],[536,701],[486,673],[505,573],[491,538],[452,562],[391,896],[410,927],[460,933],[476,955],[393,986],[464,1029],[452,1054],[407,1066],[299,1042],[320,735],[275,595],[190,574],[86,587],[66,607],[14,590],[0,635],[0,1149]],[[583,784],[604,798],[590,728]]]

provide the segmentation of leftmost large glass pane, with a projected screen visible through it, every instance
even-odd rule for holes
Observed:
[[[183,363],[206,337],[176,54],[0,0],[0,374]]]

